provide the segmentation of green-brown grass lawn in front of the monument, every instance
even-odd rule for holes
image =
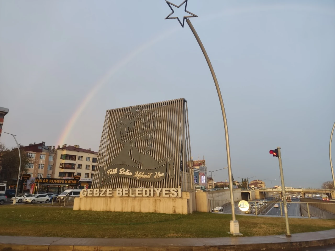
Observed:
[[[73,211],[43,205],[1,205],[0,235],[91,238],[229,237],[231,215]],[[285,219],[238,216],[244,236],[285,234]],[[335,220],[289,219],[291,233],[335,228]]]

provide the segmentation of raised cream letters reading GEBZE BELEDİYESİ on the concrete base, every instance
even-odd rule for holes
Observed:
[[[83,197],[112,197],[112,188],[82,189]],[[116,188],[117,197],[181,197],[180,188]],[[247,202],[248,203],[248,202]]]

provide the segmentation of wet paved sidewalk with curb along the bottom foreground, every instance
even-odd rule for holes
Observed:
[[[227,238],[104,239],[0,236],[0,251],[212,251],[299,250],[335,244],[335,229],[285,235]]]

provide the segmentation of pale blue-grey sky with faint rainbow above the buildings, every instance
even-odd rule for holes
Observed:
[[[279,185],[269,150],[280,146],[285,186],[331,180],[335,1],[189,0],[187,10],[220,85],[234,179]],[[3,132],[21,145],[98,151],[107,109],[183,97],[193,159],[226,167],[209,68],[187,23],[164,20],[170,13],[164,0],[0,0]],[[228,179],[227,169],[214,174]]]

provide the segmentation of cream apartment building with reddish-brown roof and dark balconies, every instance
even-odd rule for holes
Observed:
[[[54,178],[73,179],[74,175],[81,175],[81,186],[92,182],[98,153],[91,149],[83,149],[78,145],[58,146]]]

